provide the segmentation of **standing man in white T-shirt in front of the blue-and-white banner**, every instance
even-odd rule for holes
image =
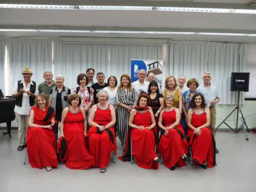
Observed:
[[[132,83],[132,87],[135,89],[135,98],[136,101],[140,96],[140,93],[145,92],[147,93],[147,90],[149,88],[149,82],[145,81],[146,78],[146,71],[144,69],[140,70],[138,72],[138,80],[134,81]]]

